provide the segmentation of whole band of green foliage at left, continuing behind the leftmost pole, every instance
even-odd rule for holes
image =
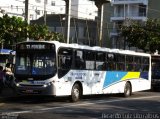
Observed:
[[[20,17],[0,17],[0,44],[4,48],[12,48],[16,43],[27,38],[34,40],[57,40],[63,42],[63,35],[50,32],[46,25],[28,24]]]

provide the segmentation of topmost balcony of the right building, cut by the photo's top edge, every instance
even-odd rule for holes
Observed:
[[[120,5],[120,4],[143,4],[148,5],[148,0],[112,0],[112,5]]]

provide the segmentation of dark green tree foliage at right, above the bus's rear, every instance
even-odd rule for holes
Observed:
[[[145,23],[132,22],[130,26],[122,26],[121,35],[129,46],[149,51],[160,51],[160,20],[148,19]]]

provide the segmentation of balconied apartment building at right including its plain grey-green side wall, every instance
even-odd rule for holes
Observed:
[[[130,25],[132,20],[145,22],[148,18],[160,18],[159,4],[159,0],[112,0],[111,6],[105,8],[106,11],[111,10],[110,13],[106,13],[110,19],[105,20],[110,26],[108,40],[111,47],[135,50],[128,47],[124,38],[120,37],[121,25]]]

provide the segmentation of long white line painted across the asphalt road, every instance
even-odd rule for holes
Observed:
[[[24,110],[24,111],[13,111],[13,112],[8,112],[12,114],[22,114],[22,113],[34,113],[34,112],[41,112],[41,111],[48,111],[48,110],[54,110],[54,109],[61,109],[61,108],[66,108],[66,107],[77,107],[77,106],[87,106],[87,105],[95,105],[95,104],[100,104],[100,103],[109,103],[109,102],[118,102],[118,101],[127,101],[127,100],[141,100],[141,99],[149,99],[149,98],[157,98],[159,96],[147,96],[147,97],[137,97],[137,98],[123,98],[123,99],[115,99],[115,100],[98,100],[98,101],[93,101],[93,102],[83,102],[81,104],[65,104],[64,106],[59,106],[59,107],[50,107],[50,108],[42,108],[42,109],[33,109],[33,110]],[[4,112],[7,113],[7,112]]]

